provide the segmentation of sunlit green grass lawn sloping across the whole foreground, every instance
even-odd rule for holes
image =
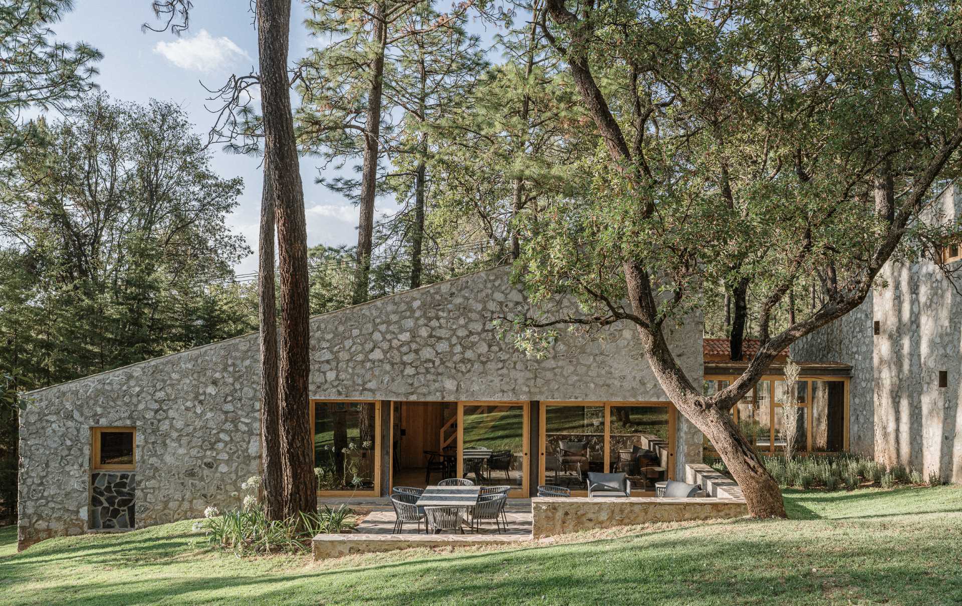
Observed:
[[[962,601],[962,488],[789,491],[785,497],[788,521],[651,524],[554,544],[411,549],[321,563],[207,551],[184,521],[55,539],[2,557],[0,603]],[[6,540],[0,534],[0,549]]]

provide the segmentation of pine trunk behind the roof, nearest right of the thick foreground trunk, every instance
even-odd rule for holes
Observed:
[[[354,272],[354,291],[351,303],[367,301],[370,280],[370,255],[374,238],[374,197],[377,193],[378,139],[381,136],[381,101],[384,83],[384,53],[388,26],[385,22],[383,2],[371,7],[374,29],[375,55],[371,60],[370,88],[367,91],[367,115],[365,116],[364,164],[361,171],[361,215],[358,220],[357,268]]]

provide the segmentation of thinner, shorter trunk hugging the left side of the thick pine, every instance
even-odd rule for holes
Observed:
[[[277,298],[274,292],[274,197],[265,166],[258,242],[261,323],[261,502],[269,519],[284,515],[280,408],[277,390]]]

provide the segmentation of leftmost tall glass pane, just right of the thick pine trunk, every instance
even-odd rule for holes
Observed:
[[[374,490],[374,402],[314,402],[317,490]]]

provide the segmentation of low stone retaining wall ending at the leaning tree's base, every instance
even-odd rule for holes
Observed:
[[[539,497],[531,499],[536,538],[630,524],[741,518],[745,499],[659,497]]]

